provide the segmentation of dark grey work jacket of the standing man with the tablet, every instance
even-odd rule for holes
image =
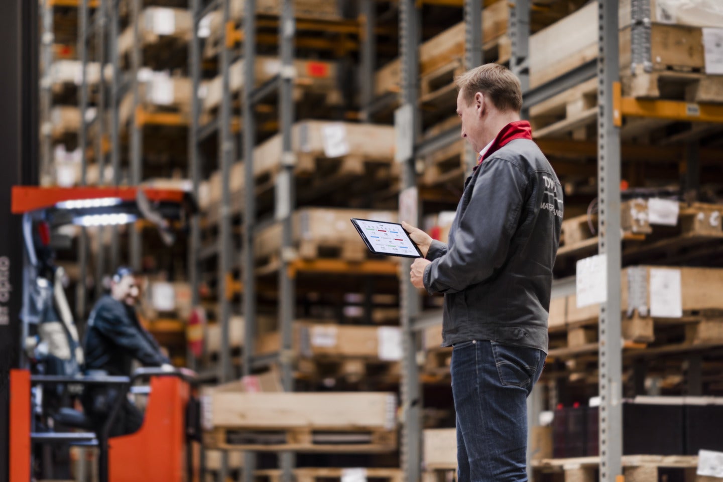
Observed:
[[[494,340],[547,352],[561,223],[562,186],[531,139],[510,140],[477,166],[449,244],[433,241],[427,253],[424,287],[445,294],[443,346]]]

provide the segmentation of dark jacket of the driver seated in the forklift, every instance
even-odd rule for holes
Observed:
[[[93,307],[85,329],[85,369],[129,376],[133,358],[145,366],[169,363],[158,343],[138,322],[132,306],[103,296]]]

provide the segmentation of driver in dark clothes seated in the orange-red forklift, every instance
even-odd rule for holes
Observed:
[[[85,372],[130,376],[135,358],[144,366],[160,366],[173,371],[161,347],[138,321],[135,303],[139,295],[136,278],[127,267],[120,267],[111,280],[111,294],[98,300],[85,329]],[[82,396],[85,413],[99,431],[108,418],[117,391],[110,387],[87,387]],[[132,434],[140,429],[143,414],[124,400],[111,427],[110,436]]]

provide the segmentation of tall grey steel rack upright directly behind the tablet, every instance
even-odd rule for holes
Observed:
[[[399,53],[401,59],[401,109],[408,109],[409,115],[403,121],[411,124],[408,129],[411,139],[407,144],[416,145],[419,131],[419,111],[417,108],[419,83],[419,11],[414,0],[400,1],[400,36]],[[401,116],[400,116],[401,117]],[[402,189],[416,185],[414,152],[402,162]],[[416,215],[416,224],[419,224],[419,213]],[[407,482],[419,481],[419,466],[421,462],[422,444],[422,391],[419,387],[419,367],[416,364],[417,334],[412,330],[414,317],[419,314],[419,294],[411,284],[407,273],[411,261],[403,258],[400,272],[400,301],[401,301],[401,328],[403,331],[403,358],[401,405],[402,438],[401,438],[401,467]]]

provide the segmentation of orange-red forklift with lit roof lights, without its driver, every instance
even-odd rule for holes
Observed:
[[[140,219],[150,220],[164,238],[172,238],[171,223],[183,222],[193,208],[189,194],[176,190],[12,189],[12,212],[22,215],[21,340],[29,355],[9,374],[10,482],[33,480],[35,462],[43,452],[38,447],[51,445],[96,447],[100,482],[194,480],[191,447],[200,440],[200,417],[192,396],[192,372],[144,368],[132,376],[84,376],[72,314],[62,287],[53,287],[50,243],[53,233],[69,223],[117,225]],[[141,380],[150,383],[139,387]],[[93,431],[82,411],[72,403],[67,406],[67,400],[90,386],[113,387],[117,394],[98,431]],[[134,434],[110,438],[114,418],[129,393],[148,397],[142,427]]]

